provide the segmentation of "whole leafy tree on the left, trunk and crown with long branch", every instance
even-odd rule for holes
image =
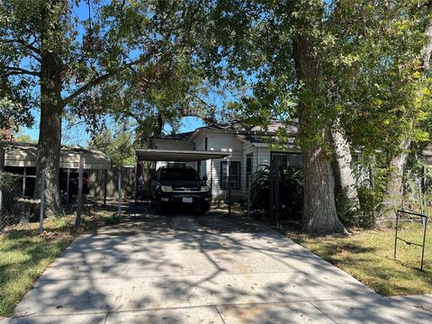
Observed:
[[[193,57],[210,2],[7,0],[0,5],[2,91],[23,113],[40,109],[37,175],[46,172],[46,211],[61,212],[58,165],[67,111],[95,127],[97,115],[131,72],[157,82],[167,58]],[[88,17],[76,11],[88,10]],[[192,45],[191,45],[192,44]],[[155,77],[146,78],[145,76]],[[112,85],[115,85],[112,87]],[[8,90],[9,89],[9,90]]]

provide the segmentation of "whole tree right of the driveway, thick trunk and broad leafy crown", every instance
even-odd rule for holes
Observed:
[[[224,34],[236,35],[225,40],[222,54],[253,87],[243,100],[247,119],[266,124],[276,117],[300,125],[304,230],[345,231],[335,207],[332,131],[343,134],[354,149],[382,150],[388,157],[397,150],[400,134],[413,130],[408,117],[422,118],[421,109],[407,107],[417,86],[410,81],[425,3],[220,4],[230,19]],[[238,31],[247,36],[236,42]]]

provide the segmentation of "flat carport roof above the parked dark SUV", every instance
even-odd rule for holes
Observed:
[[[213,158],[228,157],[229,152],[213,152],[199,150],[177,150],[177,149],[136,149],[139,161],[173,161],[194,162]]]

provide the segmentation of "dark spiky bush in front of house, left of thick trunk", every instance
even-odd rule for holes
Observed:
[[[250,200],[253,210],[265,211],[270,206],[270,166],[261,166],[253,175]],[[280,168],[279,199],[281,220],[301,220],[303,207],[303,177],[300,168]]]

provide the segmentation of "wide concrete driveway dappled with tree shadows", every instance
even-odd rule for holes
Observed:
[[[6,323],[430,323],[266,226],[144,213],[85,234]]]

